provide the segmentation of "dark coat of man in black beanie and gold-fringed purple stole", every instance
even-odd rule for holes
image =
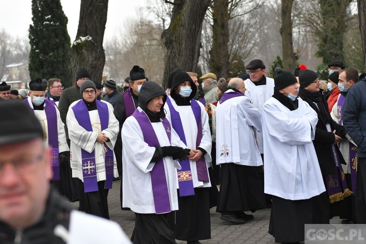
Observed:
[[[322,93],[322,90],[320,91]],[[337,136],[345,137],[346,131],[342,125],[337,124],[333,120],[326,121],[326,117],[324,114],[320,112],[318,107],[312,102],[312,100],[306,96],[302,89],[300,89],[299,97],[303,99],[305,102],[309,103],[310,107],[312,107],[315,112],[318,114],[318,123],[315,128],[315,138],[313,140],[314,148],[316,151],[316,155],[318,157],[320,170],[322,171],[322,175],[329,175],[335,173],[334,160],[333,160],[333,152],[332,145],[335,140],[335,135],[333,132],[328,132],[326,129],[326,124],[329,123],[331,130],[336,130]],[[328,104],[325,100],[325,97],[322,96],[323,103],[325,105],[326,111],[328,111]],[[336,151],[338,153],[339,159],[342,164],[346,164],[345,160],[341,152],[338,149],[338,146],[335,146]]]

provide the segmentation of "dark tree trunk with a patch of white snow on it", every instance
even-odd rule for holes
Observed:
[[[73,84],[81,68],[89,71],[91,80],[102,81],[105,54],[103,37],[107,22],[108,0],[81,0],[79,27],[70,51]]]

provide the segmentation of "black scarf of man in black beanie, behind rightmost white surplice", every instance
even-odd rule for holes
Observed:
[[[309,105],[316,111],[318,115],[320,115],[318,116],[319,118],[324,118],[325,123],[331,123],[332,118],[330,117],[328,104],[325,101],[324,95],[322,95],[323,89],[320,89],[319,92],[310,92],[304,89],[300,89],[300,94],[311,100]],[[313,102],[315,102],[316,105]]]

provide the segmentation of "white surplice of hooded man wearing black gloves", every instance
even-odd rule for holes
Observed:
[[[142,111],[140,107],[137,109]],[[151,124],[161,147],[172,145],[185,148],[173,128],[171,128],[171,141],[169,142],[163,122]],[[129,207],[136,213],[156,213],[150,175],[150,171],[155,165],[155,162],[150,163],[155,153],[155,147],[150,147],[144,142],[140,124],[133,116],[128,117],[123,123],[121,135],[123,144],[122,206]],[[175,167],[180,169],[181,166],[177,160],[173,161],[172,157],[164,157],[163,163],[170,207],[172,211],[178,210]]]

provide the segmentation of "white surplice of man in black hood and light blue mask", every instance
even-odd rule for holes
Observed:
[[[193,114],[193,110],[191,106],[178,106],[177,103],[172,99],[170,96],[167,98],[170,99],[174,109],[179,113],[182,126],[186,141],[186,147],[196,149],[196,141],[197,141],[197,122]],[[197,101],[196,101],[197,102]],[[207,153],[203,156],[206,161],[207,167],[207,175],[208,168],[212,166],[212,159],[211,159],[211,147],[212,147],[212,138],[210,132],[210,126],[208,124],[208,115],[204,106],[201,102],[198,102],[201,108],[201,124],[202,124],[202,140],[198,147],[201,147]],[[169,110],[168,104],[165,103],[164,110],[166,111],[166,118],[171,123],[171,114]],[[173,127],[173,126],[172,126]],[[198,148],[197,148],[198,149]],[[197,176],[197,166],[196,162],[193,160],[189,160],[189,165],[192,171],[192,179],[193,179],[193,187],[211,187],[211,182],[200,182],[198,181]],[[178,175],[177,175],[177,182],[178,182]],[[178,184],[177,184],[178,186]]]

